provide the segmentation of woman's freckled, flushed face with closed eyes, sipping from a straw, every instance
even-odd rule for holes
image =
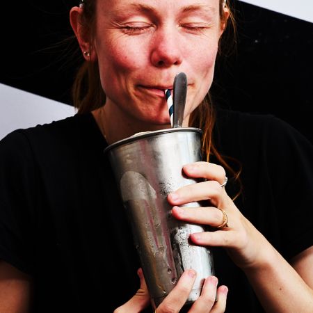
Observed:
[[[166,125],[164,90],[185,72],[188,124],[213,79],[219,0],[97,0],[96,12],[94,47],[106,105],[124,118]]]

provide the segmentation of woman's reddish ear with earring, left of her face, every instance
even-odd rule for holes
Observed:
[[[83,57],[86,61],[96,61],[97,55],[93,49],[92,38],[90,31],[81,24],[81,16],[83,14],[83,8],[74,6],[70,10],[70,24],[79,42],[79,47],[83,52]]]

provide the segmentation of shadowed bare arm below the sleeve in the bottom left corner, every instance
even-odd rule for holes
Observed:
[[[29,275],[0,259],[0,312],[29,312],[31,284]]]

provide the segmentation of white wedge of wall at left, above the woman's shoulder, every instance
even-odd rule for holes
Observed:
[[[72,106],[0,83],[0,139],[15,129],[61,120],[74,113]]]

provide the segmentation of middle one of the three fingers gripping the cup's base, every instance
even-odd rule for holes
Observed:
[[[200,297],[193,303],[190,313],[210,312],[216,300],[216,287],[218,279],[215,276],[209,276],[203,284]]]

